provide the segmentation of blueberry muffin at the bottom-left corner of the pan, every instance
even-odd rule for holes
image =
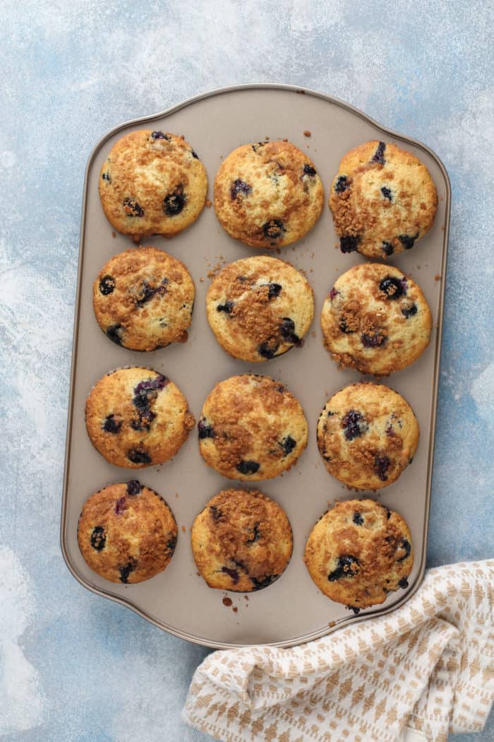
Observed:
[[[77,540],[87,565],[105,580],[143,582],[167,568],[177,525],[164,499],[134,480],[87,499]]]

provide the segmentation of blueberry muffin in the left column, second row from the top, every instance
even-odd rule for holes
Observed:
[[[93,307],[114,343],[156,350],[187,340],[194,294],[184,263],[155,247],[136,247],[101,269],[93,284]]]

